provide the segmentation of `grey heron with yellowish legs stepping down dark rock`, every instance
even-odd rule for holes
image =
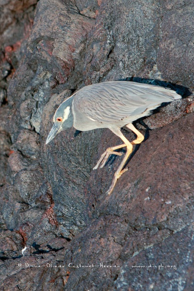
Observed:
[[[133,145],[143,142],[144,135],[138,131],[133,121],[149,116],[164,102],[180,99],[174,90],[161,86],[132,81],[104,81],[81,88],[72,96],[65,98],[53,116],[54,125],[46,140],[48,144],[62,130],[74,127],[80,131],[108,128],[122,141],[122,145],[108,147],[101,155],[93,170],[104,167],[110,155],[121,156],[117,149],[126,147],[125,156],[114,173],[112,184],[107,191],[111,194],[116,181],[128,168],[123,169]],[[131,142],[122,134],[126,126],[137,138]]]

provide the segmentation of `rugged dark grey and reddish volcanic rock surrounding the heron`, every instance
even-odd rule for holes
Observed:
[[[0,1],[0,290],[194,289],[192,6]],[[106,196],[121,158],[92,168],[118,137],[69,129],[45,140],[65,97],[112,80],[183,99],[135,123],[145,141]]]

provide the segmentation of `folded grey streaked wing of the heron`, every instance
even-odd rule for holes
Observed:
[[[113,123],[146,110],[149,112],[149,108],[153,110],[162,102],[170,102],[179,96],[173,90],[156,87],[127,81],[102,82],[82,88],[73,103],[76,111],[90,119]]]

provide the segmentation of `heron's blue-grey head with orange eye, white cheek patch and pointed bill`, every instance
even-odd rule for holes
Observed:
[[[46,145],[57,135],[57,133],[73,126],[72,101],[73,98],[69,97],[57,108],[53,116],[54,124],[47,137]]]

